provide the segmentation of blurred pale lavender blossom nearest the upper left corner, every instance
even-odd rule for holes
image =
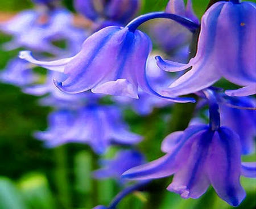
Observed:
[[[33,10],[23,11],[0,24],[0,31],[13,35],[13,40],[3,45],[6,50],[24,47],[58,56],[79,52],[87,36],[84,30],[73,26],[71,12],[63,8],[43,14]],[[67,51],[52,44],[57,40],[67,41]]]

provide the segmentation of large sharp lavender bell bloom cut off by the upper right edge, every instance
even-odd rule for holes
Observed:
[[[224,77],[243,88],[228,95],[247,96],[256,92],[256,7],[253,2],[217,2],[201,20],[197,53],[188,64],[156,57],[166,71],[192,67],[171,84],[170,95],[186,95],[207,88]]]

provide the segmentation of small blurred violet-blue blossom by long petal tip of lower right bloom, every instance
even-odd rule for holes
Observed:
[[[126,170],[146,163],[141,152],[136,150],[121,150],[114,159],[103,160],[101,169],[93,172],[94,178],[115,178],[121,181],[121,175]]]

